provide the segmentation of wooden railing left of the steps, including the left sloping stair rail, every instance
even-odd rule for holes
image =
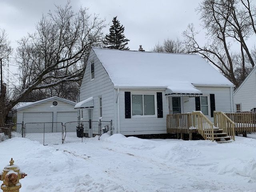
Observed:
[[[189,128],[196,128],[204,139],[214,141],[213,127],[201,111],[167,115],[167,133],[189,133]]]

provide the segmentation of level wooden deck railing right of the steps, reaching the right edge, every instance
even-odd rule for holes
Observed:
[[[238,134],[256,132],[256,113],[225,113],[234,123]]]

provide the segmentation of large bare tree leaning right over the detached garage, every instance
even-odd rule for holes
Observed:
[[[89,15],[86,8],[74,12],[69,3],[43,15],[36,32],[18,42],[16,60],[21,85],[0,118],[4,119],[8,111],[32,91],[81,80],[84,58],[88,57],[91,46],[102,43],[104,27],[104,20],[98,15]]]

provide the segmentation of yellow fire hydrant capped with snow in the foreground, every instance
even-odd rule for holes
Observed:
[[[3,192],[19,192],[21,188],[20,179],[23,179],[27,174],[20,172],[20,168],[14,165],[14,160],[10,160],[10,165],[7,165],[0,174],[0,180],[4,183],[1,185]]]

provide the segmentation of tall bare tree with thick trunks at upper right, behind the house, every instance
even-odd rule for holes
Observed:
[[[250,5],[249,1],[247,3]],[[255,9],[252,11],[250,6],[249,9],[254,19]],[[198,32],[193,24],[189,24],[183,32],[184,43],[191,53],[198,53],[214,64],[238,87],[255,62],[246,44],[246,40],[255,35],[252,33],[254,24],[243,0],[203,0],[198,12],[208,41],[204,46],[198,44]],[[240,46],[240,51],[234,53],[231,50],[236,45]],[[238,71],[240,75],[237,75]]]

